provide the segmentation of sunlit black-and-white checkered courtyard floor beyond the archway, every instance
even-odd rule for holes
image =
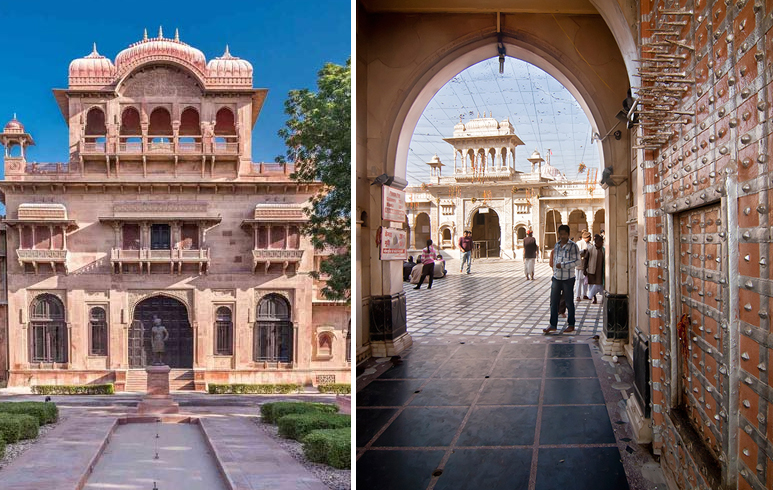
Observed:
[[[538,263],[534,281],[527,281],[522,260],[477,260],[472,274],[459,273],[459,261],[449,260],[448,275],[427,290],[405,282],[408,332],[414,339],[437,336],[542,336],[550,320],[551,269]],[[603,312],[588,300],[577,305],[577,329],[565,337],[601,333]],[[559,318],[559,327],[566,324]]]

